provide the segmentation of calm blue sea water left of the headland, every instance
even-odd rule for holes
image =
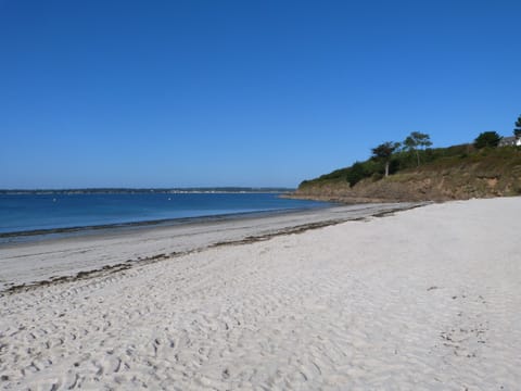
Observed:
[[[274,193],[0,194],[0,234],[323,205]]]

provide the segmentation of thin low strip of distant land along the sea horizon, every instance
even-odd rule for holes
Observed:
[[[279,193],[293,190],[280,187],[0,189],[0,194]]]

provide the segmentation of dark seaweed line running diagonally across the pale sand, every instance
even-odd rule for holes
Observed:
[[[101,268],[92,269],[92,270],[82,270],[78,272],[76,275],[73,276],[60,276],[60,277],[51,277],[50,279],[47,280],[41,280],[37,282],[31,282],[31,283],[21,283],[21,285],[15,285],[12,287],[9,287],[4,289],[3,291],[0,292],[0,298],[4,297],[5,294],[14,294],[21,291],[29,291],[33,289],[37,289],[39,287],[45,287],[45,286],[50,286],[54,283],[63,283],[63,282],[73,282],[73,281],[78,281],[78,280],[86,280],[94,277],[105,277],[111,274],[116,274],[126,269],[129,269],[134,266],[141,266],[141,265],[148,265],[152,263],[156,263],[160,261],[166,261],[166,260],[171,260],[175,257],[180,257],[193,253],[199,253],[203,252],[205,250],[209,249],[215,249],[215,248],[221,248],[221,247],[227,247],[227,245],[241,245],[241,244],[250,244],[250,243],[255,243],[255,242],[260,242],[260,241],[266,241],[269,239],[272,239],[275,237],[279,236],[288,236],[288,235],[297,235],[297,234],[303,234],[307,230],[313,230],[313,229],[319,229],[328,226],[333,226],[338,225],[341,223],[346,223],[346,222],[367,222],[368,217],[386,217],[386,216],[392,216],[396,212],[403,212],[403,211],[410,211],[416,207],[421,207],[424,204],[417,204],[417,205],[411,205],[408,207],[396,207],[392,209],[389,211],[384,212],[379,212],[374,213],[370,216],[366,217],[353,217],[353,218],[341,218],[341,219],[329,219],[329,220],[323,220],[323,222],[318,222],[318,223],[309,223],[309,224],[303,224],[294,227],[289,227],[289,228],[282,228],[274,232],[269,234],[264,234],[264,235],[258,235],[258,236],[247,236],[243,239],[238,239],[238,240],[228,240],[228,241],[221,241],[221,242],[216,242],[212,243],[205,247],[192,249],[189,251],[181,251],[181,252],[171,252],[169,254],[156,254],[152,256],[147,256],[147,257],[138,257],[136,260],[127,260],[126,262],[114,264],[114,265],[106,265]]]

